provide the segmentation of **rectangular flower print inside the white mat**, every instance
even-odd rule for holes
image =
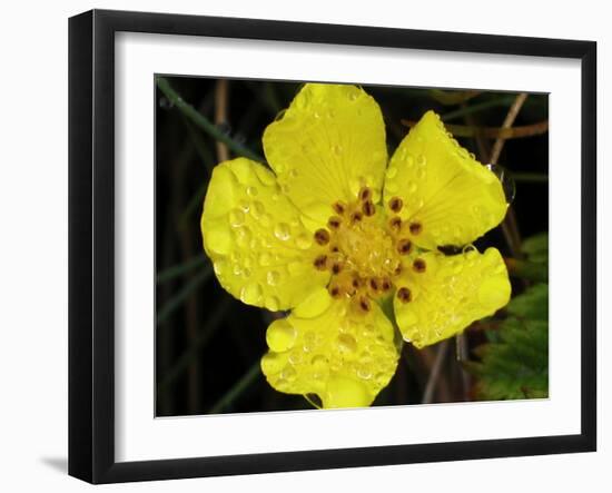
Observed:
[[[546,93],[155,85],[157,416],[549,397]]]

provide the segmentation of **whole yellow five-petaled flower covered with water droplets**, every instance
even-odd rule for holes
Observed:
[[[437,250],[468,245],[507,205],[433,111],[388,161],[371,96],[308,83],[266,128],[264,150],[274,172],[245,158],[215,168],[201,231],[225,289],[292,310],[267,329],[261,369],[274,388],[367,406],[395,373],[402,338],[434,344],[509,302],[495,248]]]

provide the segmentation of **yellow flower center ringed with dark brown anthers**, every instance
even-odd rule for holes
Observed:
[[[376,206],[372,190],[363,187],[353,203],[335,203],[336,214],[329,217],[327,228],[315,233],[315,241],[326,252],[315,258],[314,266],[332,272],[329,294],[334,298],[352,298],[361,312],[369,312],[373,299],[394,290],[406,264],[403,258],[414,250],[406,230],[414,234],[415,226],[403,225],[397,216],[402,199],[394,197],[387,206],[388,211]],[[417,272],[424,272],[424,260],[417,260]],[[409,302],[409,293],[403,292],[399,299]]]

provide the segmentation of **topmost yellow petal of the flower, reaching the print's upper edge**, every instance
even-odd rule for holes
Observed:
[[[379,199],[387,162],[376,101],[355,86],[307,83],[264,132],[264,150],[289,198],[324,224],[332,204],[355,199],[362,186]]]

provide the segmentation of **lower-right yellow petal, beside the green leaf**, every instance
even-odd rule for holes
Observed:
[[[406,267],[394,299],[397,326],[404,339],[418,348],[463,332],[510,300],[507,269],[495,248],[452,257],[427,253],[418,258],[424,272]],[[402,288],[408,289],[409,300],[401,300]]]

